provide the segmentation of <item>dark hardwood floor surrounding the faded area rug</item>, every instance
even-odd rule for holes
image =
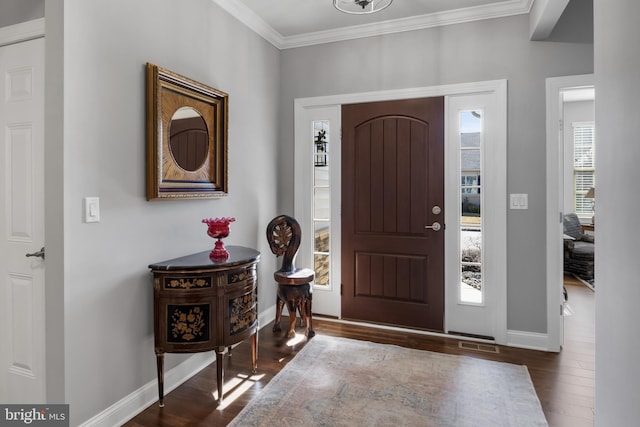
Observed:
[[[594,293],[575,279],[565,278],[568,312],[565,317],[565,345],[558,354],[499,347],[499,354],[459,348],[463,339],[394,332],[346,325],[314,318],[317,334],[395,344],[422,350],[526,365],[542,408],[552,427],[593,426],[594,408]],[[283,320],[286,324],[286,320]],[[299,328],[302,332],[302,329]],[[138,414],[125,426],[224,426],[304,347],[306,339],[289,346],[287,339],[271,332],[271,324],[259,335],[258,374],[250,374],[248,342],[234,348],[225,358],[225,402],[218,409],[214,395],[215,364],[165,396],[165,407],[157,403]]]

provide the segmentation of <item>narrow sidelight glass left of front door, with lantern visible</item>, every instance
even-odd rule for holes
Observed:
[[[329,287],[331,233],[331,204],[329,168],[329,121],[313,122],[311,143],[313,144],[313,260],[316,272],[315,286]]]

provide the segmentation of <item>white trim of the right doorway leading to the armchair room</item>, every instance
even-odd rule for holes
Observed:
[[[562,92],[593,87],[593,74],[550,77],[547,92],[547,350],[560,351],[564,341],[562,317],[562,215],[563,136]]]

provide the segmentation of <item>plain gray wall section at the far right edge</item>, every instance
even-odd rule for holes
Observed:
[[[640,2],[595,0],[594,16],[598,132],[595,424],[629,426],[640,419]]]

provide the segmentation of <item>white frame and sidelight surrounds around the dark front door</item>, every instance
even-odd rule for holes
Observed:
[[[314,286],[314,312],[322,315],[342,318],[341,312],[341,277],[340,277],[340,259],[341,259],[341,201],[340,194],[341,183],[341,114],[340,108],[343,104],[366,103],[377,101],[406,100],[430,97],[445,97],[445,145],[446,150],[450,151],[445,154],[445,168],[447,170],[455,170],[460,167],[460,128],[459,117],[461,111],[480,111],[482,110],[490,118],[485,121],[485,130],[492,137],[488,139],[488,144],[483,148],[483,158],[496,162],[495,164],[486,165],[488,172],[483,177],[483,189],[486,199],[483,203],[491,206],[492,213],[488,218],[489,222],[483,224],[483,231],[487,233],[486,241],[483,242],[483,271],[482,279],[485,286],[485,295],[483,296],[483,304],[466,304],[472,310],[482,311],[488,314],[485,325],[490,328],[490,333],[481,333],[483,336],[492,336],[497,343],[506,344],[506,90],[507,82],[505,80],[476,82],[459,85],[435,86],[427,88],[414,88],[398,91],[385,92],[368,92],[359,94],[344,94],[336,96],[300,98],[294,102],[295,112],[295,200],[294,200],[294,216],[300,222],[303,229],[303,235],[315,236],[314,227],[314,205],[312,195],[314,194],[314,169],[316,169],[316,160],[318,154],[326,154],[326,161],[329,165],[328,182],[331,189],[329,190],[329,203],[324,203],[328,210],[324,211],[324,216],[330,218],[331,237],[328,242],[325,239],[322,250],[315,251],[314,238],[303,238],[303,244],[300,248],[298,256],[309,265],[314,265],[314,258],[321,256],[326,261],[326,252],[329,252],[330,271],[323,276],[322,283]],[[454,117],[454,119],[450,119]],[[325,121],[329,122],[326,126]],[[322,126],[326,126],[326,132],[323,133],[323,139],[328,145],[325,147],[326,153],[318,153],[316,144],[317,131],[314,132],[314,122],[323,122]],[[317,126],[316,126],[317,127]],[[453,138],[457,141],[450,144]],[[450,149],[453,146],[454,149]],[[450,161],[456,159],[456,165],[451,166]],[[497,166],[497,167],[493,167]],[[322,166],[324,167],[324,166]],[[486,188],[484,187],[486,186]],[[445,183],[445,206],[443,212],[454,215],[455,218],[447,217],[445,219],[445,239],[447,239],[447,248],[458,248],[460,244],[460,233],[454,232],[456,227],[446,227],[451,223],[459,225],[459,217],[461,215],[461,177],[457,176],[455,180]],[[320,189],[320,193],[326,193],[324,189]],[[319,193],[319,194],[320,194]],[[451,196],[449,196],[451,195]],[[431,211],[430,211],[431,212]],[[316,221],[317,222],[317,221]],[[430,223],[429,223],[430,224]],[[326,228],[326,227],[325,227]],[[492,232],[489,234],[489,230]],[[337,237],[336,237],[337,236]],[[315,252],[315,253],[314,253]],[[461,283],[461,255],[459,249],[454,252],[445,254],[445,299],[447,306],[444,313],[444,331],[456,330],[460,332],[468,332],[478,335],[473,331],[474,321],[472,317],[467,317],[451,307],[458,307],[459,289]],[[451,263],[449,263],[452,260]],[[325,262],[324,265],[327,265]],[[483,292],[485,292],[483,291]],[[452,301],[449,304],[449,301]],[[464,310],[463,310],[464,311]],[[455,327],[450,325],[458,322],[465,322],[463,327]],[[477,322],[476,322],[477,323]]]

